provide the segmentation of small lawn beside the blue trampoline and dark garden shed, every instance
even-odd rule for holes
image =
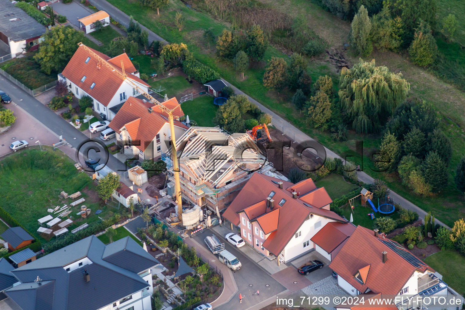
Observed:
[[[185,101],[181,104],[184,115],[189,115],[189,120],[195,120],[199,126],[213,127],[213,118],[215,117],[218,106],[213,104],[213,98],[210,96],[200,96],[193,100]]]

